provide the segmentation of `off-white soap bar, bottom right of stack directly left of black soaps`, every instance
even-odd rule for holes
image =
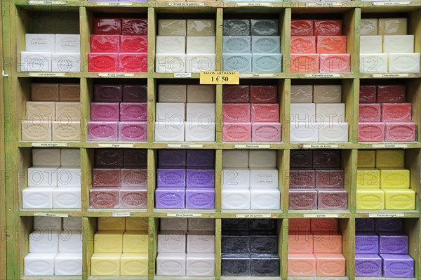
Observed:
[[[209,253],[187,253],[187,276],[215,276],[215,255]]]

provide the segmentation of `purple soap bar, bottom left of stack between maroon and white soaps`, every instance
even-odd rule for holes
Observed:
[[[174,187],[157,187],[155,189],[155,208],[185,208],[185,189]]]

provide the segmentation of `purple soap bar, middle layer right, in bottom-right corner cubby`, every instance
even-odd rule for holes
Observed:
[[[408,254],[408,235],[395,232],[378,232],[380,254]]]

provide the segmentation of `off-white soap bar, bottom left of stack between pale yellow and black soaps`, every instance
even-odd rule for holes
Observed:
[[[158,253],[156,255],[156,275],[185,276],[186,253]]]

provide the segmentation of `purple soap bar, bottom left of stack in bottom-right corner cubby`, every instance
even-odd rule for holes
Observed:
[[[356,277],[381,277],[382,258],[377,254],[355,254]]]

